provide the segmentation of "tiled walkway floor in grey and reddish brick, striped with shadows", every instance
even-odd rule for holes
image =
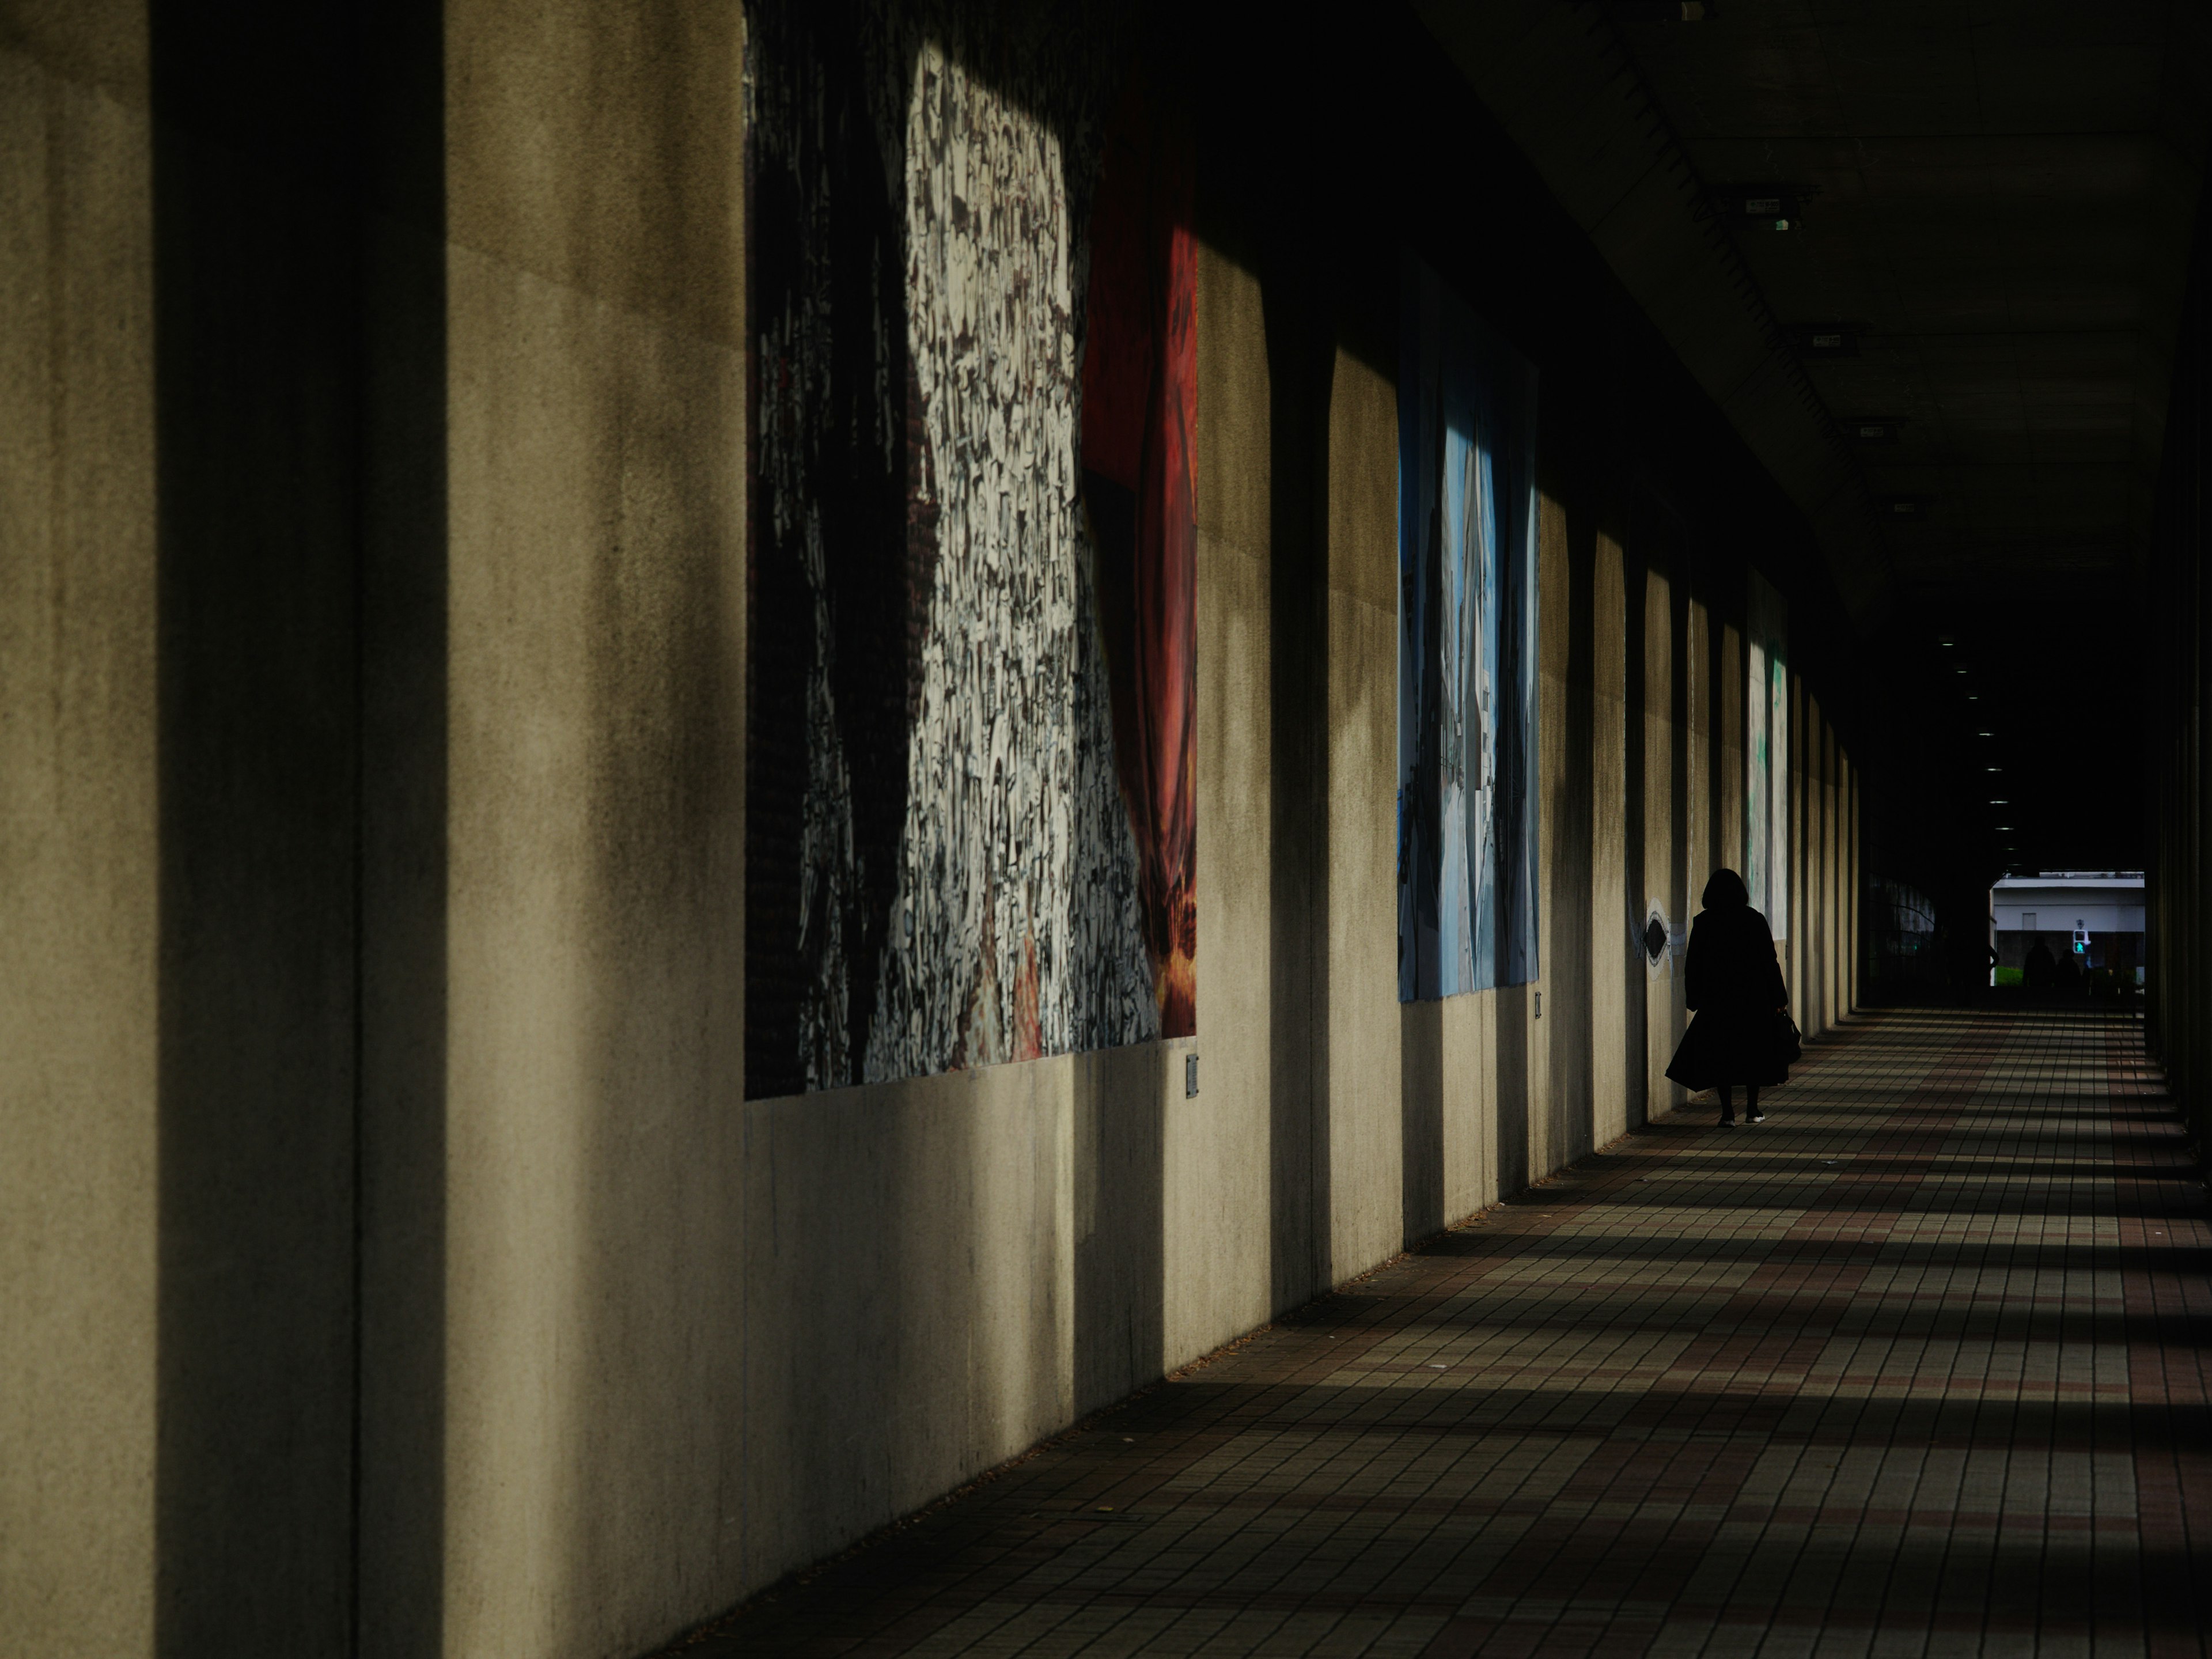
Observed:
[[[721,1655],[2203,1655],[2212,1225],[2137,1026],[1889,1013]]]

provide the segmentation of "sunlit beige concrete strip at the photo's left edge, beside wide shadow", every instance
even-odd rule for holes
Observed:
[[[155,1619],[153,146],[139,7],[0,11],[0,1648]]]

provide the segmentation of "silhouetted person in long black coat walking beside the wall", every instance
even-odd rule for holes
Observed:
[[[1719,1088],[1721,1124],[1736,1121],[1734,1084],[1743,1084],[1743,1117],[1763,1124],[1761,1086],[1790,1082],[1792,1044],[1785,1031],[1790,989],[1774,960],[1767,918],[1752,909],[1743,876],[1714,869],[1705,883],[1705,905],[1690,927],[1690,984],[1686,1002],[1697,1011],[1666,1075],[1683,1088]]]

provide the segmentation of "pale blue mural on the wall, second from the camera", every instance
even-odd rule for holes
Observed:
[[[1407,261],[1398,349],[1398,995],[1537,973],[1535,369]]]

